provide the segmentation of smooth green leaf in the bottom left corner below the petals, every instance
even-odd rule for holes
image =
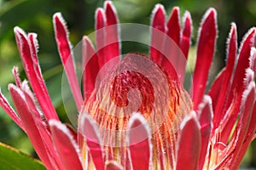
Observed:
[[[5,170],[46,169],[41,161],[3,143],[0,143],[0,167]]]

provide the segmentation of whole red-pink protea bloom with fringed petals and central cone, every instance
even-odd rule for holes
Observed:
[[[28,82],[13,69],[9,84],[15,111],[1,94],[0,105],[32,141],[47,169],[237,169],[255,138],[255,28],[240,48],[236,25],[227,39],[226,66],[206,93],[217,40],[217,14],[209,8],[201,21],[192,86],[183,88],[192,20],[179,8],[168,20],[157,4],[151,20],[149,56],[120,56],[119,21],[110,1],[96,10],[96,48],[83,38],[83,95],[79,88],[67,26],[53,17],[55,40],[79,112],[78,130],[60,122],[38,65],[35,33],[15,27]],[[161,33],[161,34],[160,34]],[[160,36],[166,35],[166,36]],[[171,39],[177,48],[172,48]],[[180,51],[183,56],[177,54]],[[164,51],[164,52],[163,52]],[[164,53],[164,54],[163,54]],[[71,57],[69,57],[71,56]],[[170,57],[172,62],[170,62]],[[177,57],[178,56],[178,57]],[[147,75],[142,66],[146,67]]]

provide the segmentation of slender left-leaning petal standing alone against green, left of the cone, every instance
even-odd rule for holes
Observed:
[[[83,98],[79,88],[78,77],[76,76],[73,52],[68,40],[67,26],[60,13],[54,14],[53,21],[55,27],[55,40],[61,56],[62,65],[66,71],[77,109],[80,111],[83,105]]]

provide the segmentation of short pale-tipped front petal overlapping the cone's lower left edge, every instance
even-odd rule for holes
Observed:
[[[96,122],[87,113],[83,113],[79,119],[79,133],[84,136],[96,169],[104,170],[105,163],[103,160],[102,143],[98,135],[98,127]]]

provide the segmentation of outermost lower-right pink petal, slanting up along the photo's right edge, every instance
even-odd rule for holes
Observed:
[[[253,113],[255,113],[255,94],[255,82],[250,82],[242,94],[241,116],[230,139],[230,143],[224,150],[224,158],[221,158],[221,161],[218,162],[217,169],[220,167],[237,169],[247,147],[251,143],[256,128],[255,115],[253,116]]]

